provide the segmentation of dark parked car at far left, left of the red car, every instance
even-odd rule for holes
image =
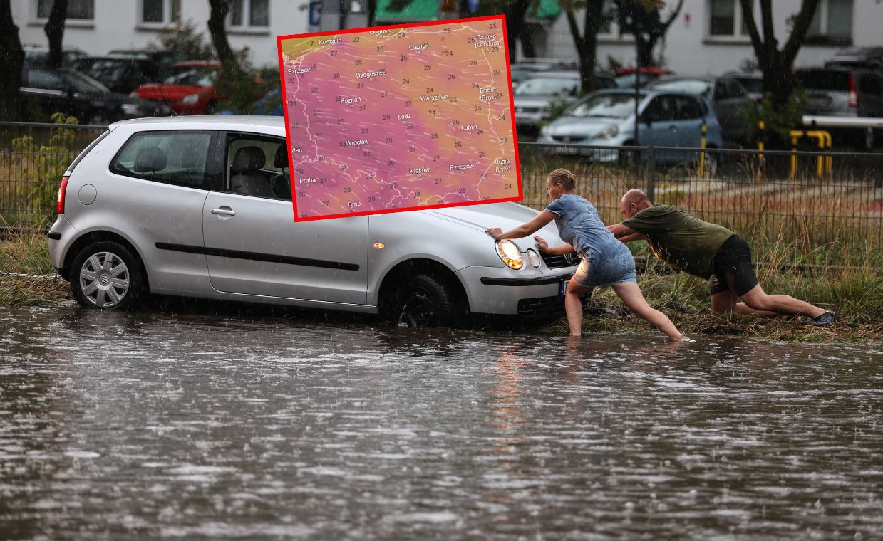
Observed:
[[[124,118],[163,116],[171,112],[161,103],[110,92],[79,71],[26,64],[21,71],[21,85],[23,117],[31,121],[46,120],[52,113],[61,112],[76,116],[80,124],[102,125]]]

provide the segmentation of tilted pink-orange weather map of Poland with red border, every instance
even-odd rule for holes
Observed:
[[[295,221],[521,199],[502,16],[277,41]]]

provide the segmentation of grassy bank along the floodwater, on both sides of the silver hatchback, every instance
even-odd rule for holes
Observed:
[[[55,274],[49,261],[48,239],[42,229],[14,234],[0,241],[0,270],[22,274]],[[802,342],[866,342],[883,336],[883,261],[865,252],[858,267],[781,267],[779,262],[758,268],[758,278],[769,293],[802,298],[838,314],[832,327],[811,327],[808,319],[759,319],[738,314],[716,314],[708,309],[708,283],[647,258],[641,289],[654,307],[693,336],[742,335],[765,340]],[[642,250],[638,255],[646,255]],[[0,276],[0,306],[53,306],[71,299],[68,282]],[[657,333],[643,319],[630,315],[612,289],[601,288],[592,297],[585,332]],[[567,334],[563,319],[541,329]]]

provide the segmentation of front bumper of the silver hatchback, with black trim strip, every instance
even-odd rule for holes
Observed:
[[[577,265],[561,269],[465,267],[457,271],[472,313],[550,317],[563,313],[562,283]],[[560,309],[560,310],[559,310]]]

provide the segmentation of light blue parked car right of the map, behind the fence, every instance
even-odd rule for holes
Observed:
[[[600,90],[585,96],[540,131],[538,143],[568,145],[554,152],[580,154],[596,161],[621,158],[617,149],[585,147],[689,147],[701,144],[702,123],[706,123],[706,147],[721,148],[721,127],[705,96],[654,89],[638,91],[638,137],[635,137],[635,94]],[[624,154],[623,154],[624,155]],[[711,154],[708,154],[711,156]],[[683,162],[695,154],[658,151],[660,162]],[[716,154],[713,164],[716,165]]]

